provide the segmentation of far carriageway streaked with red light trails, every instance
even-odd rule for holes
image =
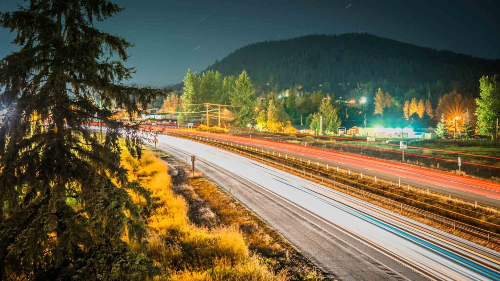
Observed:
[[[401,184],[429,189],[430,192],[450,194],[453,197],[477,201],[480,204],[500,207],[500,183],[472,177],[459,176],[442,171],[395,163],[360,155],[347,154],[328,149],[308,147],[272,140],[249,138],[221,133],[182,130],[182,133],[205,136],[225,141],[238,142],[254,147],[280,151],[290,156],[319,161],[332,167],[339,166],[379,179],[401,181]]]

